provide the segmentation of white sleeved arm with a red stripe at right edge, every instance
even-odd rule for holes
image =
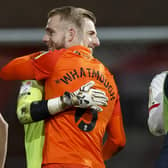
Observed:
[[[151,134],[160,136],[165,134],[164,129],[164,82],[167,72],[156,75],[149,87],[149,104],[148,104],[148,127]]]

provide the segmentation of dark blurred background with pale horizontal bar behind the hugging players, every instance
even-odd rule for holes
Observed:
[[[96,14],[101,46],[94,55],[114,74],[119,89],[127,145],[106,162],[107,168],[153,168],[163,137],[148,131],[148,87],[153,76],[168,67],[168,1],[2,1],[0,65],[45,49],[41,39],[47,12],[63,5]],[[0,112],[9,123],[6,168],[26,167],[23,127],[15,114],[19,86],[19,81],[0,80]]]

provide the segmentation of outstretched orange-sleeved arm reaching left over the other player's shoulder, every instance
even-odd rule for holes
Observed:
[[[45,79],[52,73],[57,61],[58,51],[36,52],[11,60],[2,67],[3,80]]]

